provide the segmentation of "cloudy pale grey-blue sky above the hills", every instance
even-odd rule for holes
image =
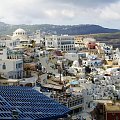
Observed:
[[[120,29],[120,0],[0,0],[9,24],[98,24]]]

